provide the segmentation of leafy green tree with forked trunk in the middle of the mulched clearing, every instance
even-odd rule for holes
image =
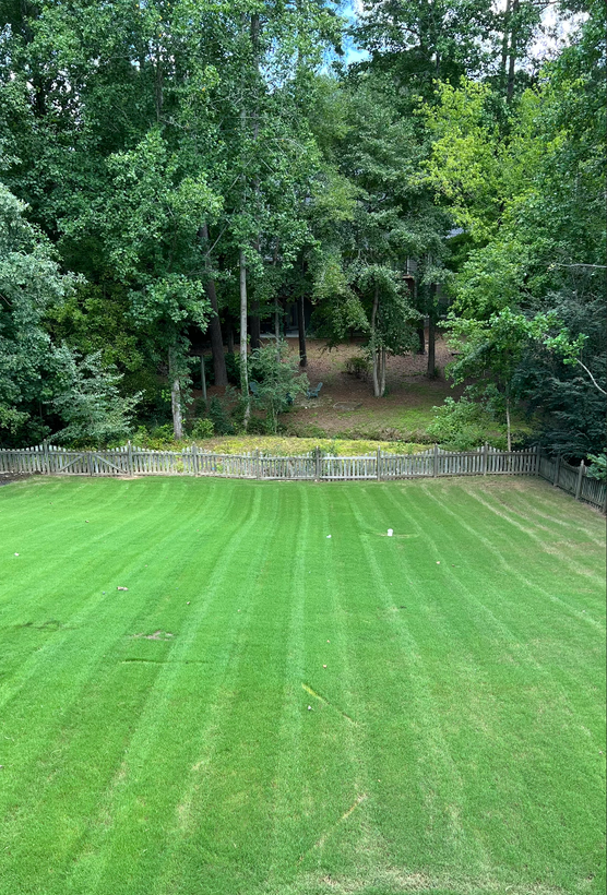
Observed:
[[[317,327],[333,344],[349,327],[369,334],[373,394],[380,397],[388,355],[416,345],[419,312],[406,279],[409,259],[420,258],[424,290],[430,286],[426,277],[440,271],[447,218],[419,182],[425,147],[416,122],[402,118],[388,79],[365,75],[325,95],[338,124],[333,136],[326,127],[321,134],[329,189],[316,212]]]

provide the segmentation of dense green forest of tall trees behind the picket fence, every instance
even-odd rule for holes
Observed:
[[[205,350],[275,421],[310,333],[381,402],[426,323],[453,425],[599,455],[605,140],[598,0],[0,0],[0,445],[210,433]]]

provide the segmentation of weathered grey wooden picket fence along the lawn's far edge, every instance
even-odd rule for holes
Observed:
[[[122,448],[74,451],[53,444],[0,449],[0,473],[45,473],[71,476],[219,476],[248,479],[355,481],[442,476],[540,476],[555,487],[605,512],[607,486],[591,478],[585,465],[571,466],[537,448],[498,451],[485,444],[475,451],[443,451],[438,445],[418,454],[331,456],[320,449],[300,456],[215,454],[195,444],[181,451]]]

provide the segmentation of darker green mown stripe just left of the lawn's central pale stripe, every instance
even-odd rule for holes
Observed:
[[[257,486],[263,488],[263,486]],[[276,574],[282,564],[290,566],[290,545],[299,528],[297,506],[288,520],[278,517],[283,494],[274,492],[273,504],[264,499],[263,518],[267,524],[266,536],[254,537],[255,561],[246,571],[240,583],[239,597],[247,623],[238,637],[226,680],[226,695],[216,706],[214,741],[201,743],[197,767],[177,807],[171,824],[171,850],[167,854],[166,868],[158,873],[152,892],[165,892],[174,886],[188,890],[192,878],[201,879],[201,866],[209,864],[204,875],[206,886],[218,886],[225,868],[233,880],[239,879],[239,868],[249,867],[246,885],[251,891],[269,872],[273,855],[264,843],[263,850],[250,855],[258,836],[267,827],[267,804],[272,791],[274,764],[278,761],[278,741],[271,736],[259,742],[259,733],[251,741],[248,732],[257,728],[276,729],[276,713],[282,707],[283,673],[289,605],[286,595],[276,590]],[[249,548],[250,549],[250,548]],[[269,578],[269,575],[272,578]],[[235,585],[231,582],[233,586]],[[237,588],[235,587],[235,590]],[[293,694],[293,685],[289,688]],[[207,739],[207,738],[205,738]],[[228,766],[224,763],[227,761]],[[230,773],[231,772],[231,773]],[[230,803],[230,792],[236,790],[236,804]],[[183,808],[187,821],[183,818]],[[212,830],[207,828],[210,809],[215,810]],[[192,831],[197,831],[197,839]],[[213,842],[214,840],[214,842]],[[241,884],[245,884],[242,882]]]

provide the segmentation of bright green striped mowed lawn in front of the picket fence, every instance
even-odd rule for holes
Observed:
[[[604,564],[535,479],[3,487],[0,892],[603,893]]]

